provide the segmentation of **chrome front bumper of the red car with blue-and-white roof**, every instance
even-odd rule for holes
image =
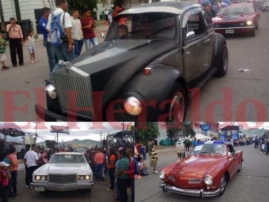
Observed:
[[[221,192],[220,188],[215,189],[215,190],[186,189],[186,188],[179,188],[179,187],[171,186],[170,184],[165,184],[163,182],[159,183],[159,187],[163,188],[164,192],[167,192],[169,190],[169,191],[180,193],[183,195],[200,196],[201,198],[217,196]]]

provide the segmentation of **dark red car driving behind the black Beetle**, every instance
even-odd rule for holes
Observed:
[[[253,4],[234,4],[220,10],[213,18],[214,30],[221,34],[249,33],[255,36],[259,28],[260,14]]]

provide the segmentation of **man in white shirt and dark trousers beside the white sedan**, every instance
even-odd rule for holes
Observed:
[[[37,153],[35,152],[36,145],[32,144],[31,149],[32,150],[27,151],[27,153],[24,155],[24,158],[23,158],[23,163],[26,167],[25,187],[27,188],[29,187],[30,183],[33,181],[32,175],[33,175],[33,172],[37,169],[37,165],[38,165],[38,156],[37,156]]]

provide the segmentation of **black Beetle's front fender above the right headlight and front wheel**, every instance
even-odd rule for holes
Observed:
[[[152,108],[150,111],[147,111],[147,114],[153,113],[154,115],[152,114],[151,116],[154,117],[162,112],[162,110],[159,110],[159,105],[171,98],[174,83],[176,81],[181,82],[186,93],[187,84],[183,74],[175,68],[162,64],[152,65],[151,67],[151,73],[147,75],[142,72],[139,73],[125,87],[120,98],[126,99],[129,96],[135,96],[139,100],[144,100],[147,104],[152,105]]]

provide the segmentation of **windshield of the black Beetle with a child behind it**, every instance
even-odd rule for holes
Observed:
[[[113,19],[106,39],[174,38],[176,15],[143,13],[117,16]]]

